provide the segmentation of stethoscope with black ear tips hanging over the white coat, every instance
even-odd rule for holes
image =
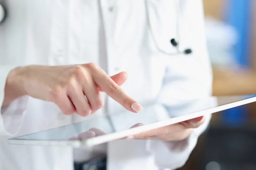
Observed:
[[[180,0],[177,0],[177,18],[179,17],[179,14],[180,14],[180,4],[179,4],[179,1]],[[187,49],[180,49],[180,46],[179,46],[179,41],[177,39],[174,39],[174,38],[171,38],[170,39],[170,43],[172,44],[172,46],[176,47],[177,51],[176,53],[168,53],[164,50],[162,50],[158,44],[156,43],[156,39],[155,39],[155,35],[154,33],[152,32],[152,26],[151,26],[151,23],[150,23],[150,19],[149,19],[149,12],[148,12],[148,0],[145,0],[145,4],[146,4],[146,12],[147,12],[147,22],[148,22],[148,27],[150,29],[150,32],[151,32],[151,35],[152,35],[152,38],[153,38],[153,41],[154,41],[154,44],[157,48],[157,50],[163,54],[166,54],[166,55],[177,55],[177,54],[190,54],[192,53],[192,50],[190,48],[187,48]],[[6,16],[7,16],[7,10],[6,10],[6,7],[4,5],[4,2],[3,0],[0,0],[0,25],[4,22],[4,20],[6,19]],[[179,19],[177,19],[177,23],[176,23],[176,27],[177,27],[177,33],[178,33],[178,39],[180,39],[179,37],[179,32],[180,32],[180,29],[179,29],[179,23],[178,23]]]

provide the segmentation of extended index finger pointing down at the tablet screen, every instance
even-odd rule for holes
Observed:
[[[142,106],[128,96],[101,68],[92,73],[93,81],[112,99],[132,112],[139,112]]]

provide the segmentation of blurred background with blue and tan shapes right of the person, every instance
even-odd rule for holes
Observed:
[[[204,0],[213,96],[256,94],[255,7],[255,0]],[[256,170],[256,103],[212,116],[180,170]]]

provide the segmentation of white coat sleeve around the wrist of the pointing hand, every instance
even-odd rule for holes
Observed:
[[[28,96],[20,97],[7,106],[2,106],[4,101],[4,88],[7,75],[16,66],[0,66],[0,136],[15,136],[22,125]]]

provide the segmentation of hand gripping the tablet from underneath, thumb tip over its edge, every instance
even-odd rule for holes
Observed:
[[[192,129],[200,127],[204,124],[204,116],[197,117],[191,120],[187,120],[185,122],[172,124],[169,126],[161,127],[155,130],[142,132],[140,134],[134,135],[135,139],[156,139],[156,140],[164,140],[164,141],[180,141],[186,139]],[[135,124],[133,127],[138,127],[143,124]]]

